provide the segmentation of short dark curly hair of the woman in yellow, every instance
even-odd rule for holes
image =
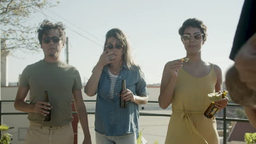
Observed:
[[[201,33],[203,34],[202,35],[203,42],[206,41],[206,39],[207,39],[207,33],[206,33],[207,27],[201,20],[196,19],[196,18],[185,20],[182,24],[182,27],[179,28],[179,35],[182,36],[184,34],[185,29],[188,28],[188,27],[199,28]]]

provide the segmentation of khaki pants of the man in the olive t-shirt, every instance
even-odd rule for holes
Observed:
[[[26,144],[73,144],[74,132],[72,124],[63,127],[43,127],[30,123],[27,130]]]

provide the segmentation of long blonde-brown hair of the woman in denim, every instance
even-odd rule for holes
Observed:
[[[135,61],[132,58],[131,46],[127,40],[127,37],[124,34],[124,32],[121,31],[121,29],[119,29],[119,28],[113,28],[107,32],[103,51],[105,51],[107,49],[107,47],[106,47],[107,40],[110,37],[116,38],[119,41],[119,43],[124,45],[124,47],[123,47],[123,63],[126,64],[129,69],[133,69],[134,66],[138,67],[138,65],[135,63]]]

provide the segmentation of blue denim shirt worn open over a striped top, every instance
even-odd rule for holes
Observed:
[[[107,136],[120,136],[129,133],[136,133],[138,137],[138,105],[128,101],[127,108],[120,108],[121,82],[126,80],[126,88],[130,89],[134,95],[140,97],[148,96],[147,84],[143,74],[139,74],[139,68],[128,69],[123,65],[114,87],[114,98],[109,98],[110,79],[108,67],[104,67],[100,81],[98,83],[96,110],[95,110],[95,130]]]

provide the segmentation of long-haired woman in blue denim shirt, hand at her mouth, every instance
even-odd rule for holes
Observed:
[[[122,80],[126,80],[123,92]],[[141,69],[132,59],[125,34],[118,28],[110,29],[103,53],[84,89],[90,97],[97,93],[96,143],[136,143],[138,105],[147,104],[146,86]],[[120,108],[120,97],[127,101],[126,109]]]

